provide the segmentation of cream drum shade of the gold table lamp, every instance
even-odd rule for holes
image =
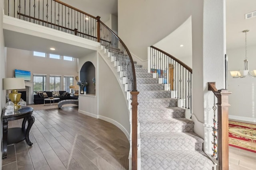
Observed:
[[[3,90],[24,89],[24,78],[3,78]]]

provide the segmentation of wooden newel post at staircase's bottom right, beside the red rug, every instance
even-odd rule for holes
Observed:
[[[218,160],[219,170],[228,170],[228,95],[231,92],[220,89],[218,96]]]

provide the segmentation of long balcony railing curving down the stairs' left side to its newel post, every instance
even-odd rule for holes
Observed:
[[[137,97],[136,74],[132,56],[123,41],[100,17],[59,0],[5,0],[5,15],[97,41],[114,57],[132,99],[132,169],[137,169]]]

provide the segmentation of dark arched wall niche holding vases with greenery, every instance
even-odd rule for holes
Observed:
[[[95,86],[92,82],[92,78],[95,78],[95,66],[92,62],[87,61],[80,70],[80,81],[86,80],[86,82],[88,82],[86,94],[95,94]]]

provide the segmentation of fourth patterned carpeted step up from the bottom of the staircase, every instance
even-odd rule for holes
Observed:
[[[180,107],[155,107],[155,108],[141,108],[138,109],[139,121],[148,119],[169,119],[169,118],[184,118],[185,109]]]

